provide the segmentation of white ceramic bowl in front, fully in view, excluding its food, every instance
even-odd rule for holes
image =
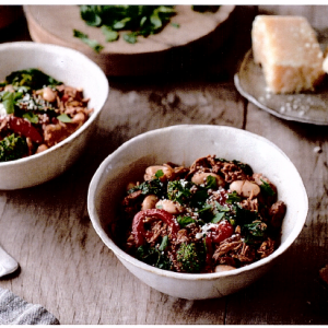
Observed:
[[[249,164],[278,187],[288,206],[279,248],[249,266],[219,273],[192,274],[148,266],[121,250],[107,234],[108,222],[117,216],[127,183],[143,176],[149,165],[173,162],[190,165],[214,154]],[[138,136],[112,153],[96,171],[89,188],[87,208],[102,241],[141,281],[172,296],[202,300],[231,294],[267,272],[298,236],[305,223],[308,200],[295,166],[272,142],[257,134],[223,126],[173,126]],[[286,272],[288,273],[288,272]]]

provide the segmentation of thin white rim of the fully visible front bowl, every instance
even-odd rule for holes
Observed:
[[[200,129],[210,127],[211,129],[234,130],[234,131],[238,131],[238,133],[244,133],[245,136],[248,134],[248,136],[250,136],[255,139],[258,139],[261,142],[265,142],[265,143],[269,144],[273,149],[276,149],[294,167],[295,174],[300,178],[300,183],[301,183],[301,186],[302,186],[302,189],[303,189],[302,190],[303,191],[302,203],[303,203],[303,207],[304,207],[304,211],[303,211],[303,214],[301,213],[301,215],[302,215],[301,218],[303,218],[303,220],[298,220],[296,222],[293,231],[291,232],[290,236],[284,241],[283,245],[280,245],[268,257],[266,257],[263,259],[260,259],[256,262],[253,262],[248,266],[237,268],[237,269],[231,270],[231,271],[212,272],[212,273],[174,272],[174,271],[168,271],[168,270],[163,270],[163,269],[152,267],[152,266],[147,265],[147,263],[136,259],[134,257],[128,255],[126,251],[124,251],[119,246],[117,246],[114,243],[114,241],[106,234],[106,232],[98,224],[97,221],[99,221],[99,218],[98,218],[97,212],[95,210],[94,198],[95,198],[96,187],[97,187],[98,183],[101,181],[103,173],[105,172],[105,167],[108,166],[107,163],[109,163],[110,160],[117,153],[125,151],[126,148],[128,148],[132,142],[134,142],[138,139],[152,136],[153,133],[161,133],[164,130],[179,129],[179,128],[185,128],[185,127],[194,127],[194,128],[200,128]],[[91,179],[89,190],[87,190],[87,211],[89,211],[89,215],[90,215],[90,219],[92,221],[92,225],[93,225],[94,230],[96,231],[96,233],[98,234],[98,236],[101,237],[103,243],[110,250],[113,250],[113,253],[118,257],[118,259],[124,259],[125,261],[129,262],[130,265],[132,265],[137,268],[140,268],[144,271],[149,271],[150,273],[155,273],[157,276],[162,276],[162,277],[166,277],[166,278],[174,278],[174,279],[177,279],[177,280],[190,280],[190,281],[194,281],[194,280],[210,281],[210,280],[215,280],[215,279],[219,279],[219,278],[223,278],[223,277],[241,276],[241,274],[244,274],[247,271],[253,271],[256,268],[263,267],[263,266],[269,265],[270,262],[274,261],[281,254],[283,254],[288,248],[290,248],[290,246],[295,242],[297,236],[301,234],[301,232],[304,227],[306,218],[307,218],[307,213],[308,213],[308,197],[307,197],[307,192],[306,192],[305,186],[303,184],[302,177],[301,177],[297,168],[295,167],[295,165],[291,162],[291,160],[286,156],[286,154],[280,148],[278,148],[278,145],[276,145],[273,142],[271,142],[267,138],[261,137],[259,134],[256,134],[254,132],[244,130],[244,129],[235,128],[235,127],[187,124],[187,125],[176,125],[176,126],[159,128],[159,129],[150,130],[150,131],[147,131],[144,133],[138,134],[138,136],[131,138],[130,140],[126,141],[125,143],[122,143],[117,150],[115,150],[112,154],[109,154],[102,162],[102,164],[99,165],[99,167],[97,168],[97,171],[95,172],[94,176]]]

